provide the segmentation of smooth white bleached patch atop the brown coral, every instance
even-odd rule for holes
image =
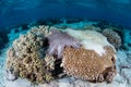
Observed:
[[[99,55],[105,53],[105,46],[110,46],[116,51],[114,46],[107,41],[107,38],[96,30],[74,30],[68,28],[64,32],[79,39],[85,49],[95,50]]]

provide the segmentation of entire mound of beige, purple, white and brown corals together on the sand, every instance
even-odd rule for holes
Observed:
[[[32,27],[8,50],[7,78],[21,77],[40,84],[66,73],[92,83],[111,83],[117,74],[115,48],[120,47],[121,39],[112,30],[105,29],[102,34],[44,25]]]

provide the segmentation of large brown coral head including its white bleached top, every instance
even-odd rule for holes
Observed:
[[[111,82],[116,74],[116,50],[107,38],[95,30],[66,29],[82,47],[66,47],[63,66],[68,75],[91,82]]]

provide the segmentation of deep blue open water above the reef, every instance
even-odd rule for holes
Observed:
[[[56,17],[86,17],[131,26],[131,0],[0,0],[0,27]]]

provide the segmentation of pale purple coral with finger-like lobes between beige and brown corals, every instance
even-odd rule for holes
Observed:
[[[73,48],[81,47],[80,41],[76,38],[71,37],[67,33],[57,29],[51,29],[50,33],[51,35],[47,37],[49,40],[49,55],[57,55],[57,59],[61,59],[66,46],[70,46]]]

